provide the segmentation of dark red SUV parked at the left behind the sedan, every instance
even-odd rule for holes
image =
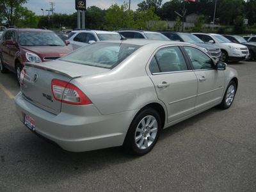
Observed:
[[[66,42],[68,44],[68,42]],[[0,69],[16,73],[19,81],[24,62],[52,61],[73,51],[53,31],[45,29],[5,29],[0,42]]]

